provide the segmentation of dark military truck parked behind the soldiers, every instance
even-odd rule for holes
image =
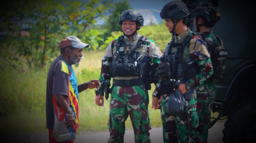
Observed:
[[[228,49],[226,73],[214,80],[217,89],[212,112],[218,112],[210,127],[225,119],[224,143],[248,143],[256,135],[256,33],[255,6],[238,0],[182,0],[190,11],[198,5],[212,3],[221,11],[221,19],[212,31]],[[188,26],[195,31],[193,19]],[[255,40],[255,41],[254,41]]]

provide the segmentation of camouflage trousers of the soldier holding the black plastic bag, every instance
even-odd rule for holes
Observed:
[[[165,104],[169,96],[164,95],[161,104],[164,143],[195,143],[198,117],[196,114],[196,98],[185,99],[185,110],[182,114],[171,116],[166,114]]]

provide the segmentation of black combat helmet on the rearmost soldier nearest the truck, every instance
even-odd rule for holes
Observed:
[[[200,24],[198,26],[204,25],[207,27],[213,27],[215,23],[221,19],[221,12],[211,3],[207,3],[205,5],[197,6],[192,11],[192,16],[201,17],[203,19],[205,24]]]

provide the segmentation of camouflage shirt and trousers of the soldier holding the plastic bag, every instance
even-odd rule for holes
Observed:
[[[191,30],[188,28],[182,34],[173,38],[174,43],[182,42],[184,37],[191,33]],[[182,114],[178,114],[175,117],[167,115],[164,111],[164,105],[168,101],[169,95],[162,95],[161,117],[164,143],[195,143],[196,127],[198,126],[196,87],[206,81],[213,73],[209,53],[201,37],[194,36],[190,43],[186,45],[182,61],[187,63],[196,62],[199,72],[190,79],[186,79],[185,77],[179,79],[181,83],[187,82],[190,86],[190,89],[183,94],[186,107]],[[161,78],[159,79],[152,96],[159,95],[162,80]]]

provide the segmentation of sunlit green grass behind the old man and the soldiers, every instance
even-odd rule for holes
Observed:
[[[99,79],[101,59],[105,51],[90,52],[84,50],[84,59],[78,67],[74,67],[78,83]],[[49,68],[49,67],[48,67]],[[45,70],[47,71],[47,70]],[[5,133],[33,133],[47,131],[45,117],[45,90],[47,72],[15,71],[0,73],[0,126]],[[151,95],[155,88],[149,91],[149,118],[151,127],[162,127],[160,110],[152,109]],[[79,93],[79,132],[107,130],[109,100],[104,99],[105,106],[95,104],[94,89]],[[214,115],[217,117],[217,115]],[[132,129],[128,118],[126,128]]]

